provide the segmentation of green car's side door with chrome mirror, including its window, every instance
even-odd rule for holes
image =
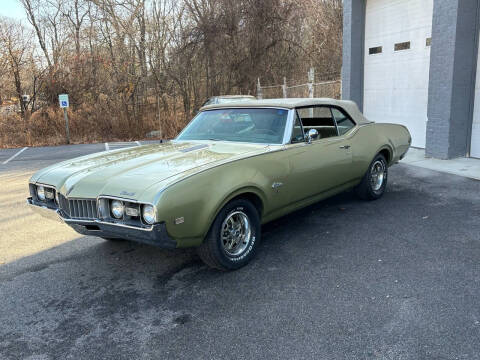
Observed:
[[[333,190],[349,180],[352,152],[349,141],[338,136],[335,118],[328,106],[297,109],[297,122],[304,133],[319,132],[310,143],[292,139],[289,150],[291,202],[307,201],[311,196]],[[296,123],[297,123],[296,122]],[[294,132],[295,133],[295,132]]]

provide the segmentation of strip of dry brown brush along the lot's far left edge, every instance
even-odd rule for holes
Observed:
[[[150,131],[162,131],[163,139],[174,137],[185,125],[182,112],[161,113],[146,105],[136,111],[118,104],[98,102],[68,110],[70,141],[74,144],[144,139]],[[135,116],[126,114],[136,113]],[[0,115],[0,148],[45,146],[66,143],[63,110],[45,107],[22,119],[19,114]]]

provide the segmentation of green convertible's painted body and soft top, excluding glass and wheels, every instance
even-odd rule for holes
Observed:
[[[390,166],[410,146],[410,134],[404,126],[370,122],[349,101],[249,101],[207,106],[200,113],[275,108],[288,111],[289,119],[293,119],[296,109],[305,106],[338,108],[355,125],[341,136],[311,142],[291,143],[294,120],[289,120],[282,144],[173,140],[96,153],[35,173],[30,179],[29,204],[44,213],[56,213],[82,234],[125,237],[165,247],[199,246],[220,210],[232,199],[248,199],[257,208],[261,222],[266,223],[357,186],[377,154],[383,154]],[[155,207],[155,224],[142,223],[141,219],[138,226],[99,219],[100,209],[94,218],[69,218],[56,204],[58,200],[50,205],[39,201],[35,193],[39,184],[54,189],[64,201],[89,199],[98,208],[102,197],[151,204]],[[48,211],[44,211],[46,208]],[[143,239],[143,234],[152,232],[158,224],[162,229],[157,231],[168,241],[156,243],[155,236]]]

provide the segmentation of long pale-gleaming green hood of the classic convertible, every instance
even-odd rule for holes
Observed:
[[[40,170],[31,182],[55,186],[68,197],[99,195],[139,199],[148,187],[269,151],[267,145],[169,142],[96,153]]]

